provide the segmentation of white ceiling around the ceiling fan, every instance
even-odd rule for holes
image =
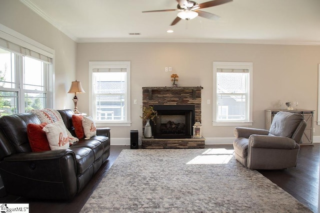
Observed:
[[[228,42],[320,45],[320,0],[233,0],[221,16],[170,23],[176,0],[20,0],[76,42]],[[208,0],[195,0],[202,3]],[[167,29],[174,30],[167,33]],[[141,33],[129,35],[129,33]]]

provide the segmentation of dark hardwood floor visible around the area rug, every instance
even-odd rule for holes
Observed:
[[[319,147],[320,144],[318,143],[314,146],[301,146],[295,168],[259,171],[314,213],[318,212]],[[77,213],[106,175],[121,150],[129,148],[129,146],[111,146],[107,162],[101,166],[87,186],[71,201],[30,200],[8,195],[0,198],[0,203],[29,203],[30,213]],[[205,148],[233,149],[232,145],[206,145]]]

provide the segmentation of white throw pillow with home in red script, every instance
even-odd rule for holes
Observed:
[[[51,150],[69,148],[69,139],[63,121],[47,124],[42,130],[46,134]]]

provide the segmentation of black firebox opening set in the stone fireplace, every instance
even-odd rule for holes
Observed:
[[[153,138],[191,138],[194,105],[154,105],[158,117],[152,123]]]

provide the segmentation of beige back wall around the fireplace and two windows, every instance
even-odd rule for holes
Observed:
[[[264,128],[264,110],[277,102],[299,101],[300,109],[317,109],[320,46],[222,43],[78,43],[77,76],[88,90],[88,61],[131,61],[131,127],[112,127],[112,136],[128,138],[142,125],[142,87],[170,86],[177,73],[179,86],[202,86],[202,133],[206,142],[233,137],[234,126],[212,126],[212,62],[253,62],[253,127]],[[164,67],[171,66],[172,72]],[[81,94],[81,110],[88,113],[88,94]],[[137,99],[137,104],[133,104]],[[207,100],[210,104],[207,104]],[[283,104],[284,107],[284,104]],[[317,113],[315,113],[316,118]],[[316,119],[314,119],[316,121]],[[315,135],[320,128],[314,123]],[[139,134],[141,135],[141,134]]]

